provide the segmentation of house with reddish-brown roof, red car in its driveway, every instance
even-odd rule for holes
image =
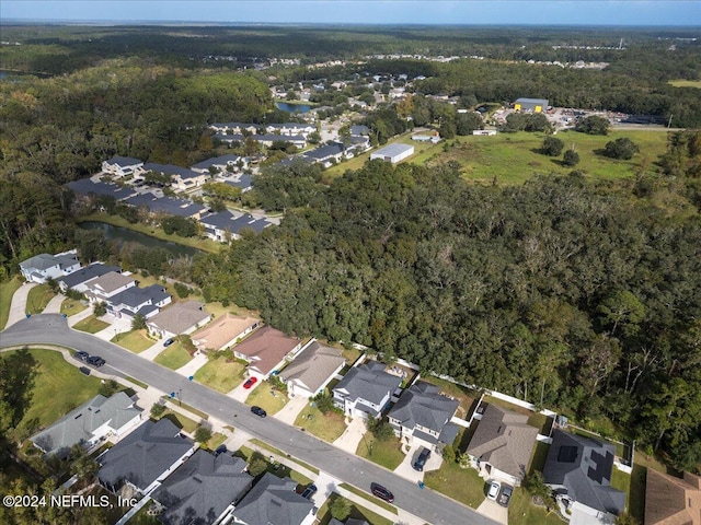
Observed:
[[[285,358],[294,355],[300,348],[299,338],[266,325],[233,347],[233,354],[249,362],[246,371],[250,376],[266,380],[281,368]]]

